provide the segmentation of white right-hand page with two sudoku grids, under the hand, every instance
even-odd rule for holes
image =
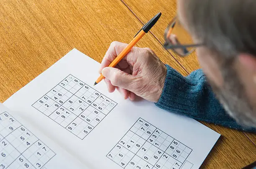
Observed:
[[[104,82],[92,88],[99,67],[98,62],[74,49],[4,104],[23,112],[23,118],[90,168],[199,168],[220,134],[194,119],[159,109],[154,103],[131,102],[118,92],[108,93]],[[79,110],[84,112],[79,114]]]

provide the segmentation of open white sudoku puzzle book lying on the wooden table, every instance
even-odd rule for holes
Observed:
[[[76,49],[0,104],[0,169],[197,169],[220,134],[93,86]]]

